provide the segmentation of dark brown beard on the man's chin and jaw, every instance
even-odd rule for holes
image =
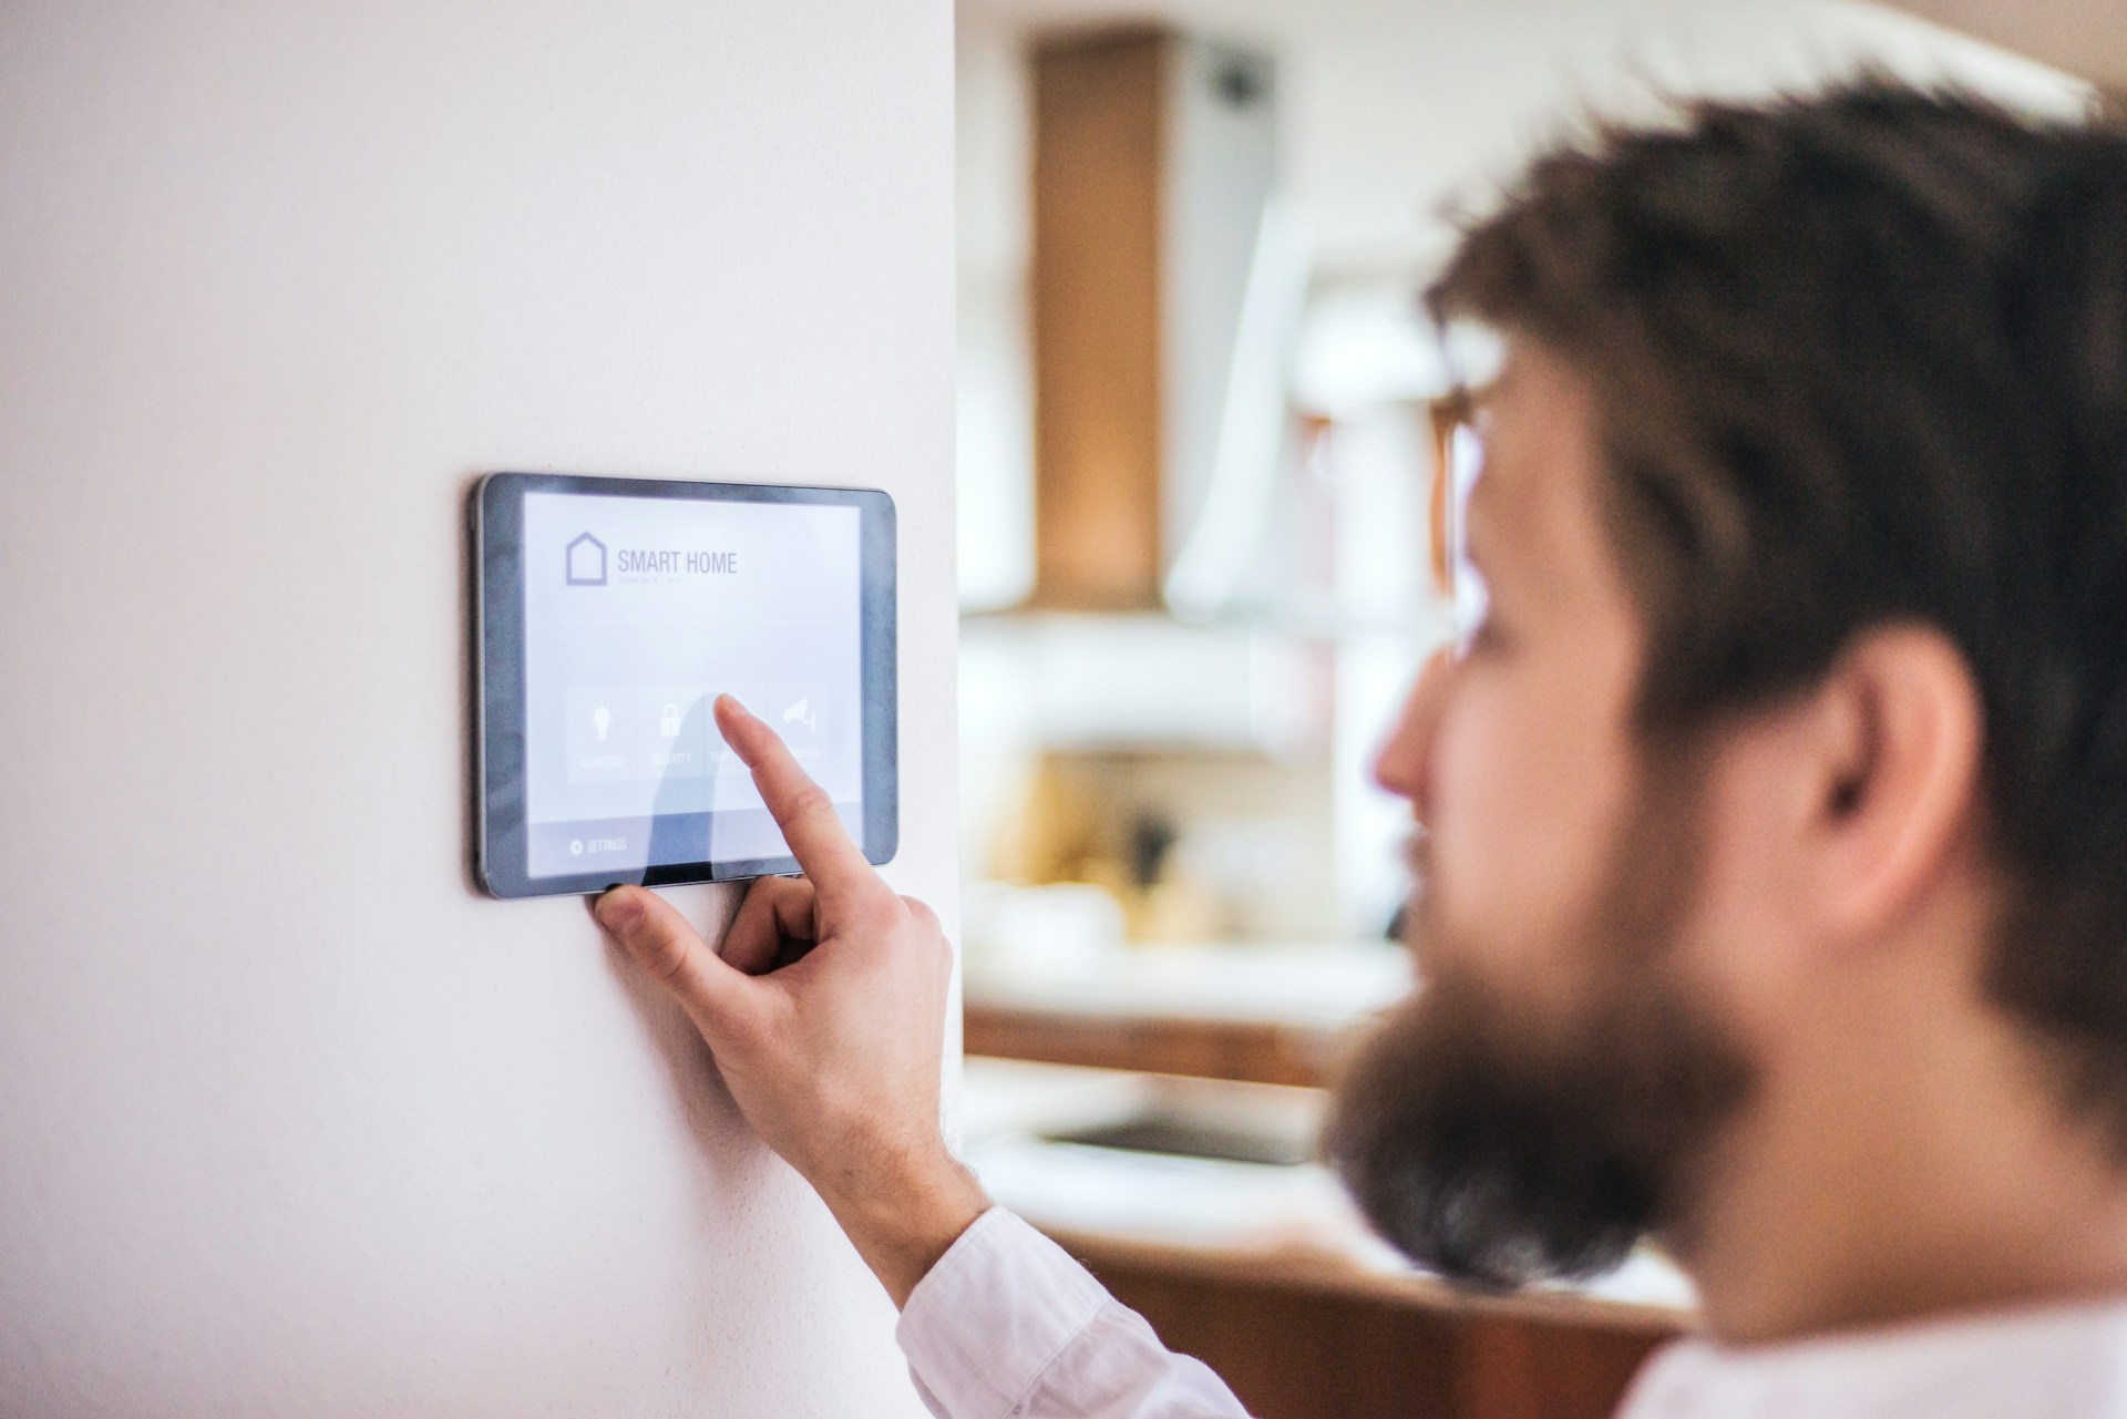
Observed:
[[[1574,1017],[1506,998],[1412,902],[1419,994],[1361,1047],[1323,1149],[1368,1221],[1417,1264],[1519,1287],[1610,1270],[1678,1221],[1691,1172],[1751,1091],[1742,1053],[1678,981],[1697,796],[1644,794],[1587,913]],[[1682,802],[1680,802],[1682,800]]]

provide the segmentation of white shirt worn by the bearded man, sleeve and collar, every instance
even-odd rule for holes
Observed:
[[[1061,1247],[991,1208],[895,1330],[940,1419],[1246,1419]],[[1619,1419],[2127,1419],[2127,1298],[1725,1349],[1676,1340]]]

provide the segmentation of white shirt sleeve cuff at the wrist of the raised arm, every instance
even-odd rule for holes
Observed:
[[[1002,1206],[938,1257],[893,1334],[938,1419],[1246,1419],[1204,1362]]]

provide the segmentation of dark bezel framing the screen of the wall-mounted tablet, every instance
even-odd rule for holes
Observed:
[[[600,479],[559,472],[491,472],[472,489],[472,640],[474,725],[474,877],[489,896],[570,896],[615,883],[659,887],[778,877],[795,857],[676,862],[636,872],[532,877],[525,821],[525,494],[670,498],[687,502],[815,502],[859,511],[859,621],[864,672],[864,855],[883,864],[900,847],[900,736],[895,653],[893,498],[876,487],[795,487],[776,483],[683,483]]]

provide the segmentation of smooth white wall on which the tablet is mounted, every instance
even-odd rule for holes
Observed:
[[[462,523],[891,489],[951,917],[951,57],[947,0],[0,4],[0,1413],[919,1413],[583,902],[470,887]]]

